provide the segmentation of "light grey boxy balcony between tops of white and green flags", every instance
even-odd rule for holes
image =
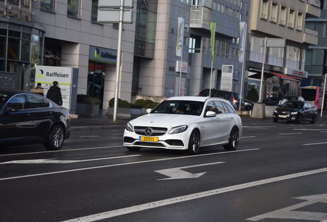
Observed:
[[[210,29],[211,9],[204,6],[191,6],[190,28]]]

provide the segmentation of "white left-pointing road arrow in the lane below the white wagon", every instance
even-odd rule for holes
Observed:
[[[192,173],[189,173],[189,172],[186,172],[186,171],[182,171],[180,169],[202,167],[204,165],[213,165],[213,164],[220,164],[220,163],[225,163],[225,162],[212,162],[212,163],[191,165],[191,166],[188,166],[188,167],[179,167],[179,168],[171,168],[171,169],[166,169],[166,170],[158,170],[158,171],[154,171],[154,172],[157,172],[157,173],[160,173],[160,174],[163,174],[163,175],[166,175],[166,176],[169,177],[169,178],[158,179],[158,180],[198,178],[198,177],[201,177],[202,175],[204,175],[207,172],[192,174]]]

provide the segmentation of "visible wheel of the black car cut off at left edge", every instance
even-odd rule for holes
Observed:
[[[60,150],[62,145],[64,144],[64,138],[64,128],[59,124],[54,125],[49,133],[47,143],[44,144],[45,149]]]

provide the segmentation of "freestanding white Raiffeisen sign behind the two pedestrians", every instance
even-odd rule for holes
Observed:
[[[59,66],[36,66],[35,67],[35,87],[41,83],[46,97],[48,89],[53,81],[59,83],[63,107],[67,108],[71,114],[75,114],[78,68]]]

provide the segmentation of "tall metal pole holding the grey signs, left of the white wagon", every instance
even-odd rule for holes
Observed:
[[[118,89],[119,89],[119,74],[120,74],[120,61],[121,61],[121,35],[123,25],[124,13],[124,0],[120,0],[120,13],[119,13],[119,29],[118,29],[118,48],[117,48],[117,63],[116,63],[116,83],[115,83],[115,103],[114,103],[114,118],[117,120],[117,107],[118,107]]]

